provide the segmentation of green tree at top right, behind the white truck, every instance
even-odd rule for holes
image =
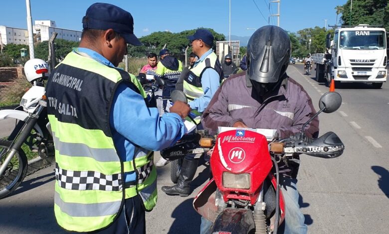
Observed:
[[[343,25],[384,25],[389,30],[388,0],[354,0],[351,9],[351,0],[343,5],[341,21]]]

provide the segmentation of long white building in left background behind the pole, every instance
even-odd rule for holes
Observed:
[[[53,20],[35,20],[33,25],[34,42],[48,41],[53,32],[57,32],[57,39],[80,41],[81,31],[57,28]],[[27,29],[13,28],[0,25],[0,42],[28,45]]]

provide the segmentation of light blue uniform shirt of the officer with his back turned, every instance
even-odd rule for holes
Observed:
[[[73,51],[115,67],[93,50],[75,48]],[[143,97],[125,84],[120,84],[114,95],[110,126],[116,149],[123,161],[134,158],[135,145],[158,151],[171,146],[185,133],[184,123],[179,115],[166,113],[160,117],[157,108],[147,108]],[[127,173],[125,177],[126,182],[136,179],[135,172]]]

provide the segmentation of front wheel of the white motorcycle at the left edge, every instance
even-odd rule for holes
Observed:
[[[6,158],[6,152],[11,141],[0,139],[0,165]],[[4,174],[0,177],[0,199],[8,196],[23,181],[27,173],[27,157],[22,149],[19,149],[9,162]]]

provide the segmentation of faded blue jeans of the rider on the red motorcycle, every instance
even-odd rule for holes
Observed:
[[[297,179],[281,178],[281,191],[285,201],[285,220],[279,228],[279,234],[306,234],[307,226],[305,218],[300,211],[299,192],[297,191]],[[200,234],[210,234],[212,222],[201,217]]]

